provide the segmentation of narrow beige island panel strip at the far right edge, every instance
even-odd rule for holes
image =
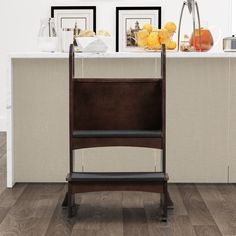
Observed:
[[[229,181],[231,183],[236,183],[236,59],[231,59],[230,68]]]

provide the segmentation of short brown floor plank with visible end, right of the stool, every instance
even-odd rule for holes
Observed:
[[[205,202],[193,184],[178,186],[192,225],[215,225]]]

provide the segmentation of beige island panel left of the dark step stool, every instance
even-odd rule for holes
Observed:
[[[68,172],[67,60],[13,62],[16,182],[64,181]]]

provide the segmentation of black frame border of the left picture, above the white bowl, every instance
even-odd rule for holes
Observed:
[[[55,11],[58,10],[92,10],[93,11],[93,31],[96,32],[96,6],[51,6],[51,17],[54,18]]]

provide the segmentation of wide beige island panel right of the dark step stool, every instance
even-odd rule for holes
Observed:
[[[228,60],[170,59],[167,170],[174,182],[226,182]]]

